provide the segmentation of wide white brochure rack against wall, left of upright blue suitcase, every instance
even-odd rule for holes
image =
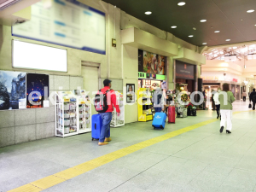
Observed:
[[[69,137],[91,131],[90,100],[72,91],[55,93],[55,136]]]

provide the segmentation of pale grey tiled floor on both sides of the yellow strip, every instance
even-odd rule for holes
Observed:
[[[247,111],[236,102],[234,111]],[[212,110],[177,119],[164,131],[151,123],[113,128],[113,142],[97,146],[90,134],[53,137],[0,148],[0,191],[15,189],[153,137],[216,118]],[[219,122],[201,126],[128,154],[45,191],[224,191],[256,192],[256,112],[236,113],[232,134],[219,133]]]

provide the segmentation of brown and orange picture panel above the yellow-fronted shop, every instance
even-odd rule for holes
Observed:
[[[142,56],[143,55],[143,56]],[[138,71],[151,74],[166,74],[166,57],[138,50]],[[142,65],[143,62],[143,65]]]

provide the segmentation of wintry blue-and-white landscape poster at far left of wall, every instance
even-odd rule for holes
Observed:
[[[0,110],[26,108],[26,73],[0,71]]]

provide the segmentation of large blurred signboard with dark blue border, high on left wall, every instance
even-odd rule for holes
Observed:
[[[41,1],[32,17],[12,27],[12,35],[106,54],[105,14],[77,0]]]

